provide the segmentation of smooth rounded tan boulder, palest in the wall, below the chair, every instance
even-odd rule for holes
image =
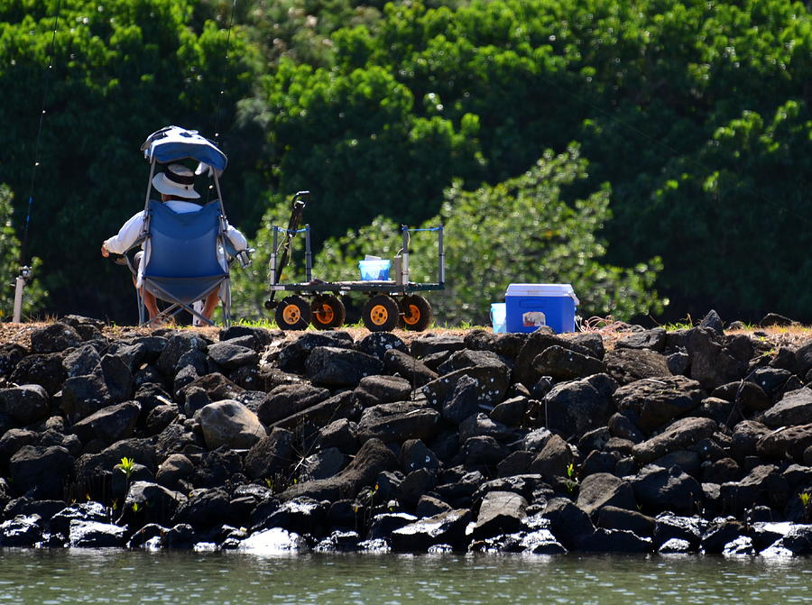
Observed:
[[[225,445],[247,449],[265,436],[265,428],[256,414],[234,399],[210,403],[195,413],[209,449]]]

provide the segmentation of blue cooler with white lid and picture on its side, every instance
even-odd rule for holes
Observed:
[[[535,332],[541,325],[575,332],[578,299],[570,284],[511,284],[504,302],[508,332]]]

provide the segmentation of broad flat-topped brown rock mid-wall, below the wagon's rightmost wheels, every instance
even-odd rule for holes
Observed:
[[[403,443],[407,439],[430,441],[438,434],[440,415],[417,402],[384,403],[367,408],[358,421],[358,438]]]

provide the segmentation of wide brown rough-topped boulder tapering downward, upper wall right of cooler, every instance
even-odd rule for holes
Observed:
[[[699,383],[684,376],[635,380],[614,391],[617,409],[631,412],[647,432],[697,408],[704,397]]]

